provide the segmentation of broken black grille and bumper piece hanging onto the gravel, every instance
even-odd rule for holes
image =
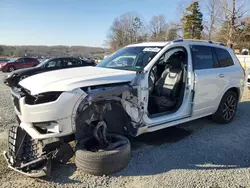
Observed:
[[[9,129],[8,150],[3,155],[9,168],[29,177],[42,177],[50,173],[51,159],[59,143],[53,144],[34,140],[21,127],[12,126]]]

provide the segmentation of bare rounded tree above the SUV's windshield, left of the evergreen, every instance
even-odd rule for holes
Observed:
[[[164,40],[166,37],[167,24],[163,14],[153,16],[149,23],[152,40]]]

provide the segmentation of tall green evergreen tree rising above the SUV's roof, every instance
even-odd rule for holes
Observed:
[[[186,13],[181,19],[183,37],[185,39],[201,39],[203,30],[203,15],[200,12],[199,2],[194,1],[186,8]]]

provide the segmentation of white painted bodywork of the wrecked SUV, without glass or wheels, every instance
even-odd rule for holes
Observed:
[[[205,45],[222,47],[217,44],[201,42],[162,42],[162,43],[142,43],[130,46],[163,46],[164,48],[148,63],[143,73],[136,75],[132,71],[115,70],[99,67],[81,67],[73,69],[63,69],[41,73],[28,77],[20,82],[20,85],[30,90],[32,95],[50,91],[64,91],[62,95],[54,102],[39,105],[27,105],[24,99],[20,99],[21,113],[17,115],[21,119],[21,127],[25,129],[34,139],[45,139],[60,137],[74,133],[76,109],[86,93],[78,89],[81,87],[104,85],[111,83],[121,83],[135,81],[138,88],[138,106],[143,106],[142,118],[134,109],[127,109],[133,113],[137,119],[142,120],[143,127],[138,129],[138,133],[146,133],[160,130],[166,127],[178,125],[187,121],[198,119],[213,114],[218,108],[219,102],[224,93],[236,87],[242,96],[244,88],[244,78],[242,68],[237,58],[230,51],[235,62],[234,66],[217,68],[212,70],[193,71],[192,57],[189,45]],[[172,114],[158,117],[150,117],[147,112],[148,105],[148,77],[149,71],[161,55],[173,47],[183,47],[188,53],[187,78],[184,100],[181,107]],[[224,77],[219,77],[223,74]],[[194,96],[193,96],[194,93]],[[126,103],[126,102],[125,102]],[[125,104],[124,103],[124,104]],[[129,108],[129,106],[126,106]],[[134,118],[136,119],[136,118]],[[40,134],[33,127],[35,122],[56,121],[59,127],[55,130],[61,130],[60,133]],[[58,129],[57,129],[58,128]]]

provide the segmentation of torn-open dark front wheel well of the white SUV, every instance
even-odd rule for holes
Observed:
[[[119,83],[82,89],[87,96],[80,103],[75,116],[77,139],[93,136],[96,123],[103,120],[109,132],[136,134],[143,114],[138,106],[136,87]]]

